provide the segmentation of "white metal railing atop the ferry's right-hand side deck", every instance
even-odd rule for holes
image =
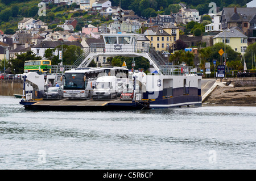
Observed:
[[[193,73],[193,66],[164,65],[159,66],[159,69],[163,75],[188,75]]]

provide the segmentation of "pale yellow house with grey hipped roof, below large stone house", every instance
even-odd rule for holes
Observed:
[[[244,35],[239,28],[233,27],[228,30],[224,30],[218,35],[213,37],[213,44],[222,42],[232,47],[232,49],[238,53],[245,53],[247,44],[247,36]]]

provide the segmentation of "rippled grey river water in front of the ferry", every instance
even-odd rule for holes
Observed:
[[[27,111],[0,96],[0,169],[256,169],[256,107]]]

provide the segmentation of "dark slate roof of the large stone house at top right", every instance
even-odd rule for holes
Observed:
[[[250,22],[255,13],[256,7],[224,7],[222,10],[222,15],[225,14],[227,22]]]

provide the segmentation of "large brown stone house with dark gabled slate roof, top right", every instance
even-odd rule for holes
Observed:
[[[224,7],[221,14],[221,29],[238,27],[244,35],[256,35],[256,7]]]

